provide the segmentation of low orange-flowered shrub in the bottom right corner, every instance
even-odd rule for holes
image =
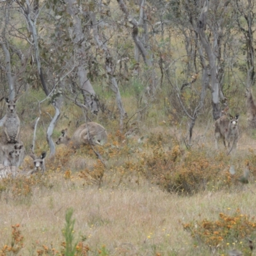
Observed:
[[[255,217],[241,214],[239,209],[231,215],[221,212],[216,221],[191,221],[182,226],[195,239],[195,244],[204,244],[212,250],[218,249],[220,253],[231,247],[243,251],[244,255],[252,253],[249,243],[256,238]]]

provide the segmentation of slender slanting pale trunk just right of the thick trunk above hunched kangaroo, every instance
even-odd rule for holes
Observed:
[[[94,39],[95,39],[95,42],[97,43],[97,45],[99,45],[99,47],[104,51],[106,72],[108,73],[108,76],[111,81],[111,90],[116,95],[116,104],[117,104],[117,107],[118,107],[118,110],[120,113],[120,129],[122,131],[122,129],[124,127],[124,118],[127,116],[127,113],[124,109],[120,90],[118,88],[118,84],[117,84],[116,78],[114,76],[115,70],[113,68],[114,67],[114,63],[112,61],[113,58],[109,52],[108,45],[106,44],[106,40],[103,43],[99,38],[98,24],[100,26],[100,23],[96,21],[95,13],[91,13],[91,17],[92,17],[92,22],[93,22],[93,26],[92,26],[93,27],[93,36],[94,36]]]

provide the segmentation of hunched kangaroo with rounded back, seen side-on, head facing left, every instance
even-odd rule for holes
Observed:
[[[108,140],[106,129],[95,122],[80,125],[74,132],[72,138],[67,135],[67,129],[61,131],[61,136],[56,141],[57,145],[72,145],[77,149],[81,145],[92,143],[93,145],[104,145]]]

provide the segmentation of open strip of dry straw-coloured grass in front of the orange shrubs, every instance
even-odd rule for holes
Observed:
[[[256,215],[254,184],[232,193],[205,192],[182,197],[147,182],[99,189],[79,186],[82,182],[76,176],[73,181],[61,176],[55,174],[51,178],[52,188],[34,188],[33,195],[22,201],[2,194],[1,246],[10,243],[11,225],[20,223],[25,237],[22,255],[29,255],[33,243],[60,247],[65,211],[73,207],[76,236],[87,237],[92,255],[98,255],[97,249],[103,245],[109,255],[210,255],[210,250],[194,247],[181,223],[216,220],[220,212],[234,212],[237,208]]]

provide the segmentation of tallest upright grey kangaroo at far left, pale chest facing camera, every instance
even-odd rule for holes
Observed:
[[[17,143],[20,140],[20,119],[16,112],[16,100],[5,98],[7,109],[3,120],[3,144]]]

